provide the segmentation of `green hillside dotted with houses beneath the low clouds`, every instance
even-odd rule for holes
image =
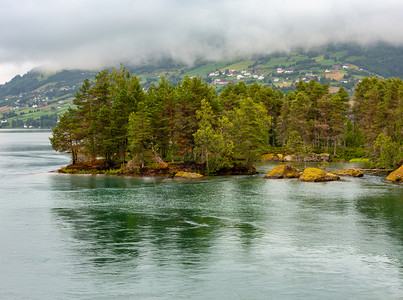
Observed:
[[[403,47],[385,44],[366,48],[329,45],[311,51],[295,50],[249,59],[198,62],[192,67],[167,59],[128,68],[139,77],[145,89],[161,77],[176,84],[184,76],[198,76],[218,91],[228,82],[243,81],[246,84],[258,82],[287,92],[299,80],[315,79],[328,83],[332,91],[343,86],[352,95],[357,82],[365,76],[403,78]],[[84,79],[93,79],[96,73],[65,70],[43,74],[32,70],[24,76],[16,76],[0,85],[0,126],[53,126],[56,121],[51,123],[46,120],[56,120],[57,115],[70,105]]]

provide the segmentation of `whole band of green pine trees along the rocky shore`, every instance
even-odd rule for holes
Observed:
[[[71,153],[73,165],[101,164],[122,174],[174,162],[217,174],[234,165],[251,167],[272,151],[367,157],[381,168],[403,159],[398,78],[366,77],[352,99],[344,88],[332,94],[315,80],[300,81],[286,94],[243,82],[217,93],[187,76],[177,85],[162,78],[144,91],[121,67],[86,79],[73,104],[53,129],[53,149]]]

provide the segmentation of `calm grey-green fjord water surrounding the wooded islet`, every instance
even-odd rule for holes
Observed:
[[[0,131],[0,299],[403,295],[403,187],[382,176],[63,175],[49,136]]]

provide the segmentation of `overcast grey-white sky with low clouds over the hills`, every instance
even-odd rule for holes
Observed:
[[[403,44],[402,0],[1,0],[0,83],[33,67],[191,64],[328,42]]]

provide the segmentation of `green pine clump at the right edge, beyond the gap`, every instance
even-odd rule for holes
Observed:
[[[354,121],[379,167],[400,162],[403,143],[403,82],[364,78],[355,90]]]

